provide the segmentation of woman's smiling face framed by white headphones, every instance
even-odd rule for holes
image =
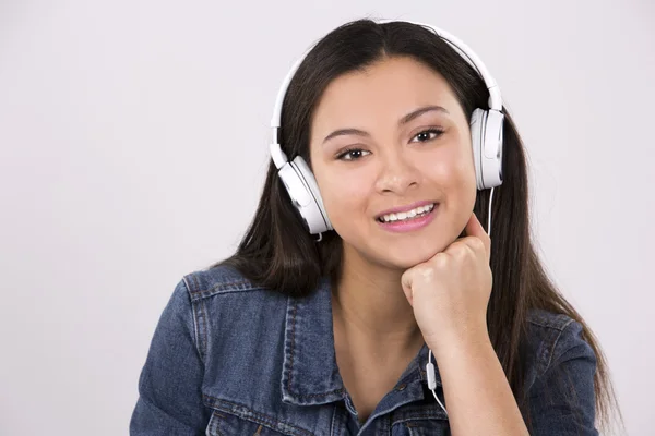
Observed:
[[[445,250],[473,211],[468,122],[448,82],[412,58],[334,80],[311,121],[310,156],[346,259],[407,269]],[[417,202],[437,205],[424,218],[380,222]]]

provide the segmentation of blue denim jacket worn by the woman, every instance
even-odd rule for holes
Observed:
[[[336,365],[331,307],[326,279],[297,299],[226,266],[184,276],[155,329],[130,434],[450,435],[448,416],[427,388],[425,344],[360,424]],[[532,435],[597,435],[596,358],[581,325],[534,311],[528,326]],[[434,391],[448,409],[436,366]],[[562,376],[565,385],[555,383]],[[565,402],[562,391],[576,401]]]

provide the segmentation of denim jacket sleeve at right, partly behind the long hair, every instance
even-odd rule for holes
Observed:
[[[529,389],[533,436],[596,436],[596,355],[571,320],[557,337],[550,363]]]

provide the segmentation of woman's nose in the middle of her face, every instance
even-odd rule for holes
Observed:
[[[378,192],[404,195],[407,190],[418,185],[420,172],[404,150],[385,153],[380,160],[381,169],[376,183]]]

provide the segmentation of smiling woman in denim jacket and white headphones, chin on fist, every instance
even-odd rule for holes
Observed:
[[[347,23],[291,69],[273,126],[237,253],[162,314],[132,434],[597,435],[620,416],[531,241],[516,128],[462,41]]]

